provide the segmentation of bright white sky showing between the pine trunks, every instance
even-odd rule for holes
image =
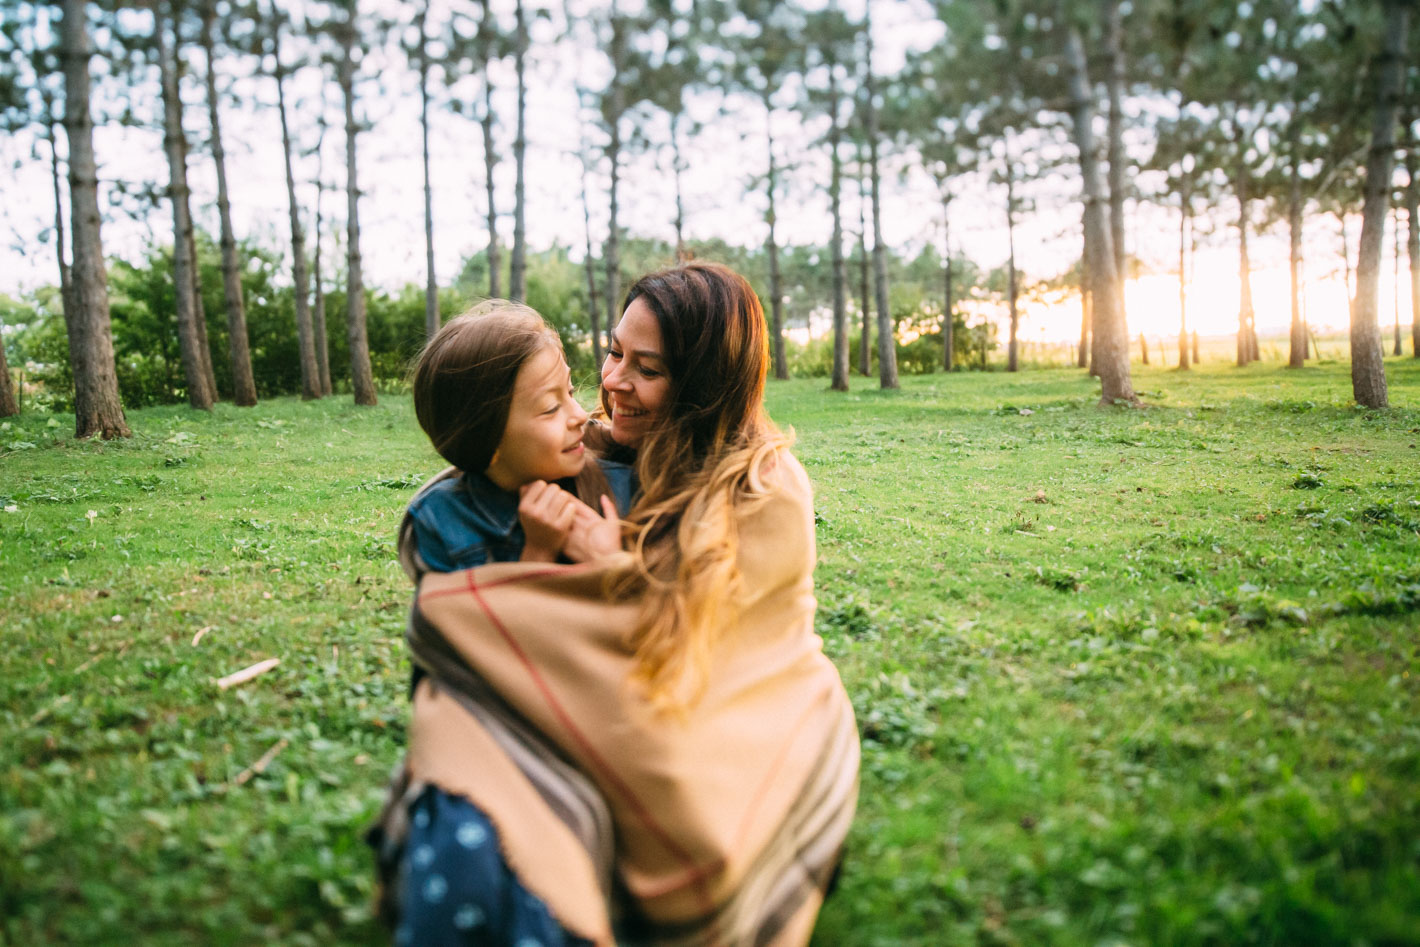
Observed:
[[[932,43],[937,33],[926,7],[916,1],[886,3],[873,0],[878,70],[897,68],[905,50]],[[389,10],[400,4],[386,3]],[[843,4],[852,16],[853,4]],[[511,3],[494,4],[511,21]],[[559,18],[559,13],[555,13]],[[599,62],[589,53],[569,53],[552,44],[561,23],[538,20],[534,27],[531,77],[528,91],[528,240],[532,247],[554,243],[574,248],[581,257],[584,246],[581,166],[575,152],[579,124],[575,84],[596,85],[602,81]],[[295,55],[294,45],[287,58]],[[200,75],[200,54],[190,54]],[[220,85],[239,95],[241,105],[230,101],[223,109],[223,138],[229,152],[234,226],[239,234],[254,237],[266,246],[287,247],[288,224],[280,131],[275,119],[275,88],[270,80],[251,78],[253,62],[219,61]],[[361,203],[366,283],[393,288],[405,283],[423,283],[423,192],[419,153],[417,87],[412,72],[389,51],[372,55],[364,70],[359,105],[371,131],[359,138],[359,173],[365,196]],[[494,71],[497,129],[501,149],[497,170],[500,233],[506,243],[513,236],[511,138],[514,114],[514,78],[511,61]],[[109,92],[112,95],[112,92]],[[311,104],[321,95],[320,75],[302,70],[288,87],[294,114],[305,116],[294,133],[301,146],[314,148],[317,128],[310,119]],[[327,132],[322,148],[322,173],[327,186],[344,185],[344,131],[339,126],[339,91],[325,88],[328,115],[335,125]],[[105,99],[109,106],[118,102]],[[186,89],[187,128],[195,139],[206,138],[206,102],[197,82]],[[256,102],[256,105],[253,105]],[[135,98],[135,106],[156,106],[156,84],[151,98]],[[723,114],[719,114],[723,106]],[[738,243],[760,243],[763,223],[763,187],[747,190],[763,175],[764,115],[741,101],[703,97],[693,102],[694,116],[704,122],[686,152],[684,175],[687,237],[726,237]],[[435,177],[436,270],[442,281],[452,278],[460,261],[480,250],[486,241],[483,148],[479,126],[447,111],[435,115],[432,141]],[[653,116],[648,129],[659,136],[665,119]],[[781,240],[787,243],[824,241],[831,231],[828,199],[819,182],[828,179],[828,160],[822,148],[807,142],[819,128],[805,129],[798,118],[780,111],[774,116],[775,136],[782,142],[781,162],[798,169],[781,195]],[[64,143],[61,138],[61,153]],[[155,129],[124,129],[116,125],[98,128],[95,148],[101,177],[128,182],[166,179],[160,133]],[[0,160],[14,173],[0,179],[0,292],[17,292],[54,283],[53,243],[40,236],[53,224],[47,145],[31,135],[14,135],[0,142]],[[885,175],[883,230],[886,241],[909,254],[923,243],[940,247],[941,220],[936,190],[920,172],[910,170],[910,158],[889,155]],[[216,231],[216,176],[206,155],[195,148],[192,158],[195,213],[199,223]],[[907,168],[906,175],[899,170]],[[606,230],[605,168],[594,179],[598,192],[592,203],[594,239]],[[300,199],[314,207],[317,158],[305,155],[298,162]],[[672,239],[674,207],[669,156],[639,155],[622,173],[622,221],[633,236]],[[1048,278],[1066,270],[1079,256],[1079,204],[1076,177],[1052,177],[1024,187],[1035,209],[1017,224],[1018,267],[1034,278]],[[849,195],[852,195],[849,189]],[[344,192],[327,192],[327,221],[344,226]],[[953,248],[967,253],[977,264],[991,268],[1004,263],[1007,234],[1004,189],[988,182],[988,169],[960,179],[953,204]],[[1231,206],[1223,213],[1235,214]],[[856,227],[858,209],[849,197],[845,216]],[[119,214],[104,227],[105,251],[128,258],[139,257],[155,240],[166,239],[170,229],[166,207],[146,216]],[[1402,221],[1403,223],[1403,221]],[[1132,207],[1129,217],[1130,253],[1140,257],[1149,271],[1129,285],[1130,331],[1150,336],[1172,335],[1179,324],[1177,300],[1177,212],[1152,203]],[[1346,324],[1345,290],[1340,284],[1340,243],[1333,217],[1312,217],[1305,246],[1308,257],[1305,312],[1319,331],[1339,329]],[[1387,221],[1389,226],[1389,221]],[[1355,261],[1359,220],[1350,221],[1350,257]],[[1223,224],[1200,236],[1200,248],[1191,261],[1190,328],[1203,335],[1227,334],[1237,327],[1237,251],[1234,231]],[[327,254],[337,253],[335,237],[325,234]],[[1252,246],[1252,297],[1258,329],[1285,329],[1289,319],[1287,280],[1287,239],[1281,231],[1258,236]],[[1392,321],[1393,275],[1392,241],[1387,233],[1382,274],[1380,312],[1384,325]],[[1402,263],[1404,266],[1404,261]],[[1402,294],[1403,324],[1410,322],[1409,284]],[[1000,314],[1004,318],[1004,312]],[[1079,307],[1027,307],[1022,336],[1032,341],[1068,339],[1078,335]]]

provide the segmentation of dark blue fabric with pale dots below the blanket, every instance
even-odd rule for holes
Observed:
[[[476,805],[429,787],[409,806],[399,947],[581,947],[508,869]]]

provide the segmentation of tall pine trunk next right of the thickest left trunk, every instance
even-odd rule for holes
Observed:
[[[187,168],[182,131],[182,99],[178,94],[176,51],[168,45],[165,4],[153,4],[153,45],[162,78],[163,146],[168,152],[169,200],[173,209],[173,288],[178,310],[178,341],[182,346],[183,378],[187,383],[187,403],[199,410],[210,410],[213,392],[202,359],[202,338],[197,334],[196,284],[192,257],[192,220],[187,217]]]

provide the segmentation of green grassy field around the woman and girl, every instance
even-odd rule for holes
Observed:
[[[1420,938],[1420,362],[775,383],[859,816],[815,943]],[[0,943],[381,943],[409,400],[0,426]],[[271,673],[214,679],[266,657]],[[268,765],[253,767],[275,750]]]

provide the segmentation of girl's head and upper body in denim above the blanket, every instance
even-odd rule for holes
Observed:
[[[490,300],[447,322],[419,355],[413,393],[419,426],[462,471],[446,471],[409,504],[403,530],[413,532],[415,561],[406,566],[416,578],[554,562],[586,505],[606,518],[630,508],[630,469],[586,464],[586,412],[572,396],[561,341],[528,307]]]

